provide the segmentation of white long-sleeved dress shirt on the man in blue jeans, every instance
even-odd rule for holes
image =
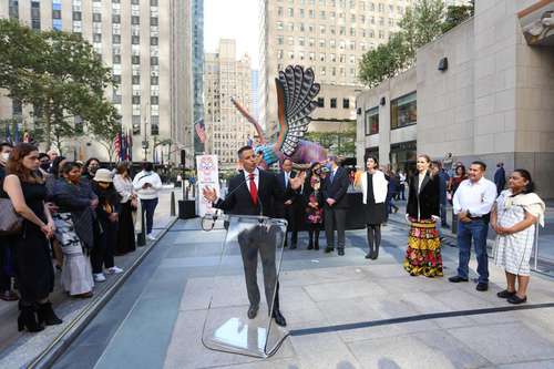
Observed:
[[[452,201],[454,214],[468,211],[471,216],[483,216],[491,213],[495,199],[496,186],[493,182],[485,177],[475,183],[464,180],[460,183]]]

